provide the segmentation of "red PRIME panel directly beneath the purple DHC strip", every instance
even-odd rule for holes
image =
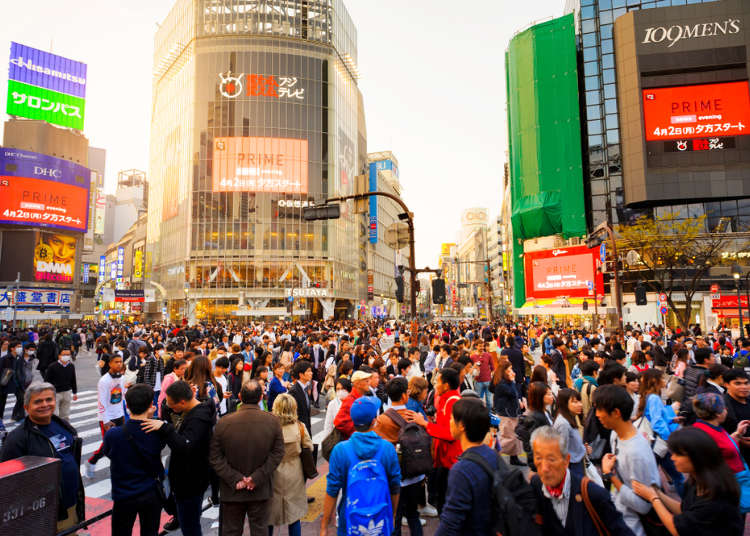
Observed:
[[[89,191],[63,182],[0,175],[0,221],[86,231]]]

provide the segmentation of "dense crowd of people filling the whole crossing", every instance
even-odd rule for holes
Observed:
[[[307,321],[94,324],[0,332],[0,461],[62,461],[58,529],[110,460],[112,532],[739,535],[750,511],[750,339],[626,326]],[[96,352],[102,444],[68,421]],[[311,416],[325,412],[313,443]],[[4,430],[0,420],[0,433]],[[162,455],[169,450],[164,467]],[[363,483],[367,483],[364,485]],[[335,525],[335,528],[334,528]]]

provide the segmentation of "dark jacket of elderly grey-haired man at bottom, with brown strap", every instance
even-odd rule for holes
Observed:
[[[552,501],[542,492],[542,481],[538,475],[531,479],[531,487],[537,498],[537,512],[542,517],[543,536],[599,536],[581,496],[581,478],[570,476],[570,498],[568,517],[565,526],[555,514]],[[599,514],[604,526],[611,536],[633,536],[633,531],[625,524],[622,514],[617,511],[609,493],[593,482],[588,485],[589,499],[593,509]]]

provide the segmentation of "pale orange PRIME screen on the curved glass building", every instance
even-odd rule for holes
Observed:
[[[214,192],[307,193],[307,140],[216,138]]]

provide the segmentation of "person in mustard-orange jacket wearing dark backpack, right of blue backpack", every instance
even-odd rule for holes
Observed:
[[[401,536],[401,518],[409,524],[409,534],[422,535],[419,504],[424,501],[425,475],[432,469],[432,439],[424,427],[411,422],[406,403],[409,384],[405,378],[393,378],[386,385],[391,407],[375,421],[374,431],[396,447],[401,457],[401,494],[396,511],[393,536]]]

